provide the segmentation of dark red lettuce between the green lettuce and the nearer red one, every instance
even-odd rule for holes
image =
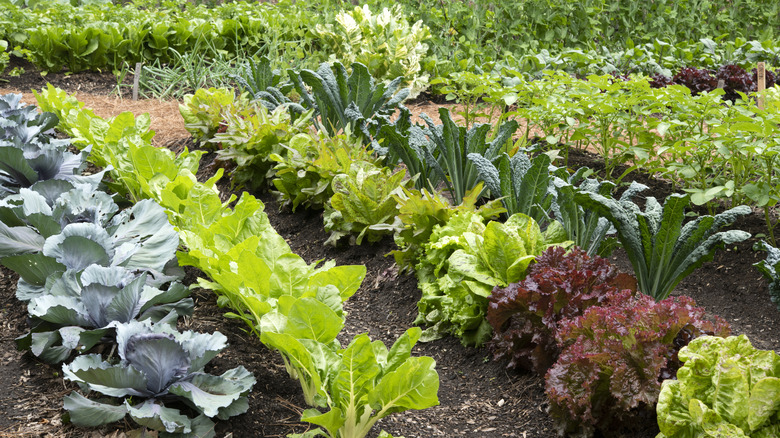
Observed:
[[[544,374],[560,353],[555,336],[560,323],[600,304],[608,292],[636,290],[636,279],[609,261],[574,247],[552,246],[536,258],[525,279],[488,297],[494,360],[507,368]]]

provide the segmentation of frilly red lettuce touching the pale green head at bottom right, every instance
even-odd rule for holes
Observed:
[[[656,302],[630,291],[562,321],[556,338],[563,351],[545,377],[558,432],[590,437],[637,410],[652,412],[661,382],[681,365],[678,351],[701,335],[729,333],[725,320],[706,318],[689,297]]]

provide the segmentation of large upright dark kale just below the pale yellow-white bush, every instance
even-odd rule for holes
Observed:
[[[304,69],[288,73],[301,96],[301,105],[315,109],[319,117],[319,121],[313,119],[317,130],[333,136],[349,129],[362,136],[365,143],[372,137],[369,127],[389,122],[396,107],[409,95],[408,88],[399,90],[402,78],[376,85],[368,67],[360,63],[352,64],[349,75],[339,62],[323,63],[316,72]],[[304,84],[311,88],[311,93]]]

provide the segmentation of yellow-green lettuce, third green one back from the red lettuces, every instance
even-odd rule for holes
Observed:
[[[363,238],[376,242],[392,231],[391,225],[398,212],[394,195],[404,182],[406,172],[393,172],[370,162],[353,162],[346,173],[333,177],[333,196],[325,206],[325,231],[330,232],[326,244],[335,245],[349,234],[357,234],[355,243]],[[408,180],[407,180],[408,181]]]

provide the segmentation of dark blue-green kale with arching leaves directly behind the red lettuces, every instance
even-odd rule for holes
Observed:
[[[618,239],[634,267],[639,290],[658,301],[668,297],[694,269],[711,260],[718,247],[750,237],[740,230],[716,232],[750,214],[750,207],[741,205],[715,216],[699,216],[683,225],[685,207],[690,202],[688,195],[672,194],[663,206],[648,197],[642,211],[630,199],[645,188],[634,182],[618,200],[593,192],[578,193],[574,199],[607,218],[617,229]]]

